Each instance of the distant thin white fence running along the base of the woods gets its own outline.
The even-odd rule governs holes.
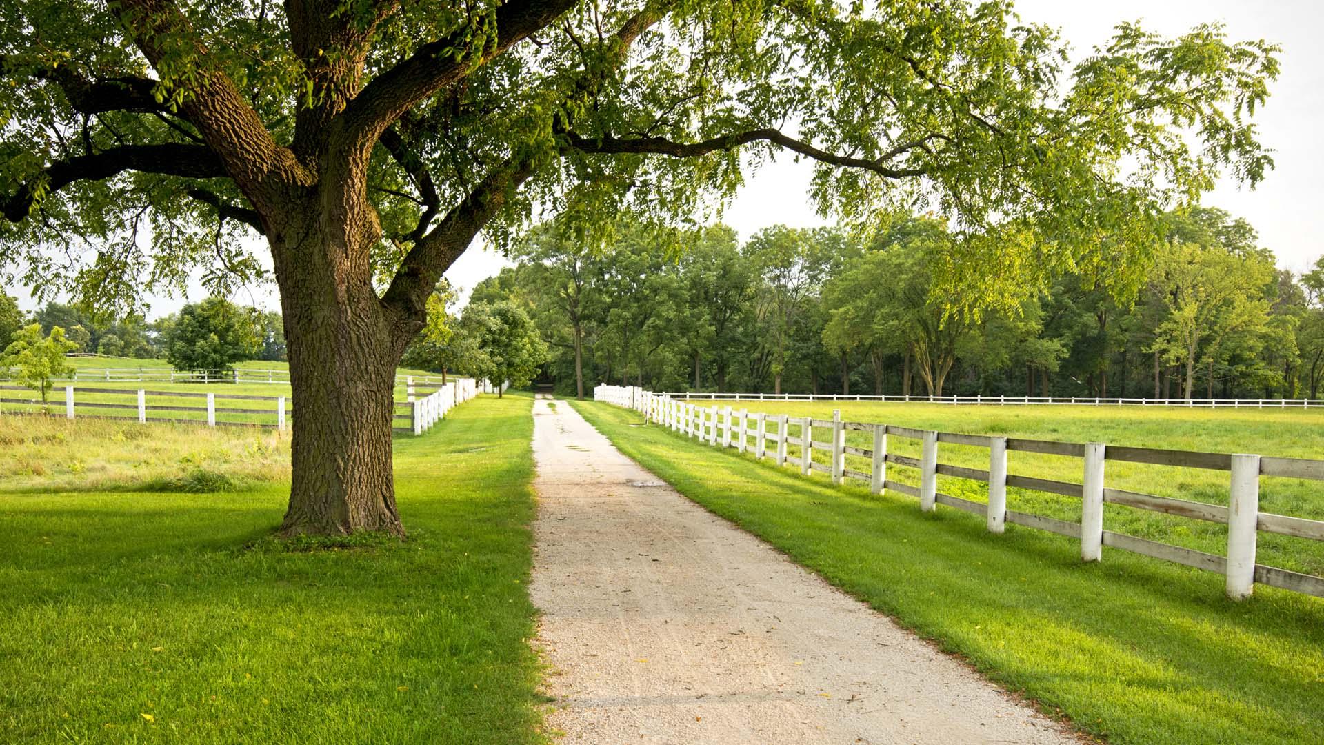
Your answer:
[[[622,387],[622,386],[612,386]],[[661,392],[659,396],[691,400],[801,400],[801,402],[884,402],[945,403],[951,406],[1184,406],[1188,408],[1324,408],[1324,399],[1145,399],[1088,396],[925,396],[925,395],[854,395],[854,394],[715,394]]]

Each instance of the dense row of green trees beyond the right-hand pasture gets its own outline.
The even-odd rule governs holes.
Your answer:
[[[1108,264],[1014,302],[956,296],[956,239],[929,217],[869,241],[775,225],[740,244],[622,225],[602,248],[543,225],[474,302],[512,302],[545,379],[654,390],[1132,398],[1319,398],[1324,258],[1275,266],[1245,220],[1169,215],[1139,282]],[[1119,286],[1121,288],[1119,290]]]

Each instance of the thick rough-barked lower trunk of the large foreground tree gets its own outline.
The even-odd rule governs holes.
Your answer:
[[[395,376],[422,314],[402,327],[377,298],[367,252],[346,249],[315,225],[316,217],[271,239],[295,402],[281,532],[400,534],[391,463]],[[322,256],[305,260],[312,253]]]

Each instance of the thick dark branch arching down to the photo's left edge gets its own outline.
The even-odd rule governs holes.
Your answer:
[[[214,179],[226,175],[216,152],[200,144],[122,144],[90,155],[57,160],[28,179],[19,191],[0,195],[0,211],[11,223],[26,217],[41,198],[74,182],[109,179],[123,171],[143,171],[191,179]]]

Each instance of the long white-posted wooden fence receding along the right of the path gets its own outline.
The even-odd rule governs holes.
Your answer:
[[[769,415],[744,408],[735,411],[730,406],[704,407],[638,387],[598,386],[593,390],[593,398],[639,411],[646,420],[662,424],[688,437],[696,437],[699,441],[733,447],[739,452],[752,451],[756,459],[772,459],[779,467],[790,464],[806,476],[810,471],[821,471],[828,473],[834,484],[855,479],[867,483],[875,494],[884,489],[892,489],[919,498],[920,509],[925,512],[932,512],[936,505],[941,504],[978,514],[985,518],[988,529],[993,533],[1002,533],[1005,524],[1012,522],[1078,538],[1080,557],[1084,561],[1099,561],[1103,546],[1110,546],[1223,574],[1227,595],[1234,599],[1250,597],[1256,582],[1324,598],[1324,578],[1255,563],[1255,542],[1260,532],[1324,541],[1324,521],[1259,512],[1260,476],[1324,481],[1324,460],[963,435],[914,430],[895,424],[842,422],[839,411],[834,412],[831,420],[809,416],[794,418],[785,414]],[[792,426],[800,427],[798,437],[790,436]],[[776,431],[771,431],[769,427],[775,427]],[[829,439],[826,441],[816,440],[814,430],[828,431]],[[871,433],[873,447],[847,445],[846,431]],[[888,453],[887,439],[890,436],[919,440],[922,443],[920,457]],[[939,463],[940,443],[988,448],[988,469]],[[788,455],[788,445],[800,447],[801,457]],[[814,461],[813,452],[816,449],[830,453],[828,464]],[[1082,483],[1010,475],[1006,465],[1008,451],[1080,459]],[[847,468],[847,455],[869,459],[870,471]],[[1104,483],[1104,467],[1110,460],[1226,471],[1229,472],[1229,506],[1110,489]],[[916,488],[887,479],[888,464],[919,471],[920,485]],[[939,475],[988,484],[988,504],[937,492]],[[1006,509],[1008,487],[1076,497],[1082,500],[1080,522],[1009,510]],[[1227,525],[1226,555],[1106,530],[1103,524],[1103,505],[1106,502]]]

